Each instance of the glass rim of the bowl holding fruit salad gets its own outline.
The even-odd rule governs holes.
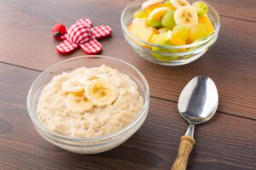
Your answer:
[[[124,23],[124,20],[125,20],[125,12],[126,10],[128,10],[129,8],[131,8],[131,5],[133,5],[134,3],[138,3],[138,2],[141,2],[143,3],[145,0],[135,0],[135,1],[132,1],[131,3],[128,3],[128,5],[125,6],[125,8],[123,9],[122,11],[122,14],[121,14],[121,17],[120,17],[120,22],[121,22],[121,26],[122,26],[122,30],[125,31],[125,34],[127,34],[129,37],[131,37],[132,39],[134,39],[135,41],[137,42],[140,42],[140,43],[143,43],[144,45],[146,46],[149,46],[149,47],[156,47],[156,48],[166,48],[166,49],[180,49],[180,48],[195,48],[197,46],[201,46],[202,44],[204,43],[207,43],[208,41],[210,41],[212,39],[212,37],[215,37],[218,35],[218,31],[219,31],[219,28],[220,28],[220,20],[219,20],[219,15],[218,15],[218,12],[215,10],[215,8],[212,7],[212,5],[210,5],[209,3],[205,2],[205,1],[202,1],[204,3],[207,3],[208,5],[208,8],[211,8],[212,11],[213,11],[213,14],[216,15],[217,17],[217,20],[215,21],[216,22],[216,27],[215,27],[215,30],[212,32],[211,35],[203,38],[201,41],[198,41],[198,42],[192,42],[190,44],[186,44],[186,45],[181,45],[181,46],[173,46],[173,45],[157,45],[157,44],[154,44],[154,43],[150,43],[150,42],[146,42],[144,41],[143,39],[141,38],[138,38],[136,36],[134,36],[133,34],[131,34],[130,31],[127,30],[126,26],[125,26],[125,23]],[[143,47],[145,48],[145,47]]]

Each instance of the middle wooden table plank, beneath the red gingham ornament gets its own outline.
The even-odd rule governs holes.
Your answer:
[[[210,1],[217,9],[223,10],[222,13],[226,11],[230,15],[241,14],[245,17],[252,13],[254,1],[232,2],[236,4],[234,10],[228,6],[230,0],[222,3]],[[90,16],[95,25],[108,24],[113,28],[113,37],[101,41],[102,54],[125,59],[143,71],[152,96],[177,102],[180,91],[191,78],[207,75],[218,85],[218,111],[256,119],[256,37],[252,36],[256,33],[255,22],[221,17],[218,42],[207,54],[189,65],[163,67],[141,59],[125,42],[119,16],[127,3],[129,1],[125,0],[66,3],[2,1],[0,35],[4,43],[0,44],[0,61],[43,71],[63,59],[84,55],[81,50],[69,56],[56,54],[55,45],[58,42],[52,39],[49,31],[56,22],[61,21],[69,26],[83,16]],[[58,11],[55,10],[56,6]],[[109,8],[114,10],[109,13]],[[242,9],[247,13],[242,13]]]

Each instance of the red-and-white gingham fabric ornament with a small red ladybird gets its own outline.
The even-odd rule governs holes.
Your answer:
[[[53,37],[62,42],[56,46],[59,54],[71,54],[82,48],[85,54],[99,54],[102,44],[97,40],[110,37],[112,30],[109,26],[91,27],[90,19],[80,19],[66,29],[66,26],[57,24],[53,27]],[[67,30],[67,31],[66,31]]]

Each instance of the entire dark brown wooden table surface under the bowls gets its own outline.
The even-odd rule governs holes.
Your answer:
[[[209,0],[220,14],[218,42],[201,59],[164,67],[140,58],[125,42],[120,14],[128,0],[0,0],[0,169],[170,169],[188,127],[177,99],[192,77],[207,75],[218,86],[211,122],[196,127],[188,169],[256,169],[256,1]],[[77,155],[42,139],[26,111],[33,80],[49,65],[83,55],[55,53],[50,29],[84,16],[113,28],[103,53],[125,59],[143,72],[151,88],[143,127],[106,153]]]

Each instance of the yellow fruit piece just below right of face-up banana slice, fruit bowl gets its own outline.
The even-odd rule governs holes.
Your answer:
[[[194,42],[203,37],[207,37],[207,28],[205,25],[199,23],[190,28],[189,41]]]

